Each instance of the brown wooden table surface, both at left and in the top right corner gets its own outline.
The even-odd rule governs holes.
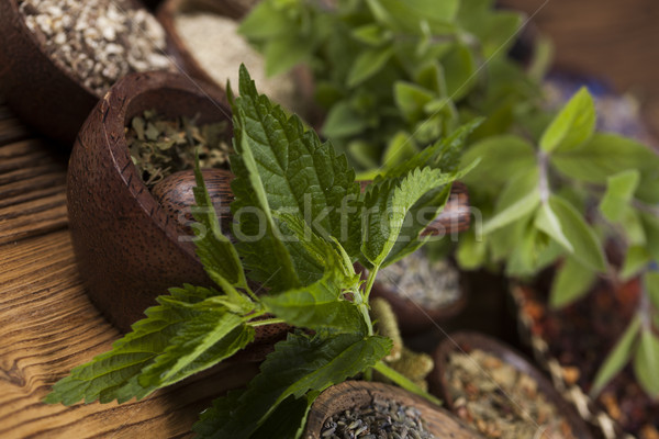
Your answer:
[[[546,0],[506,0],[534,13]],[[606,72],[632,90],[659,132],[659,7],[656,0],[548,0],[536,23],[558,63]],[[255,367],[217,370],[142,402],[64,407],[41,399],[76,364],[119,334],[78,275],[67,230],[66,159],[0,104],[0,438],[188,437],[198,412]]]

